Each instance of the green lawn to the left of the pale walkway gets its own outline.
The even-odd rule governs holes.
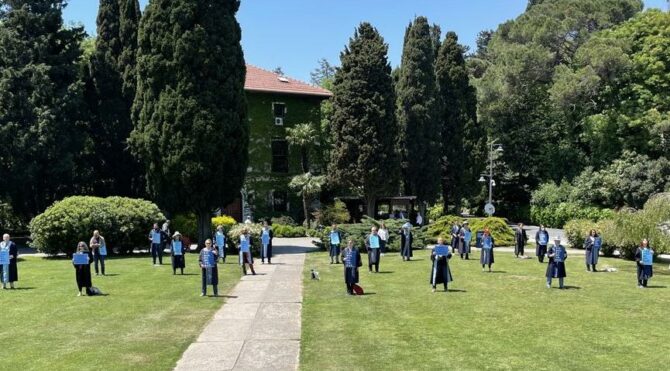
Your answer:
[[[77,297],[69,260],[26,257],[19,289],[0,290],[0,369],[172,369],[225,300],[199,297],[197,258],[186,256],[184,276],[148,256],[110,259],[108,276],[93,273],[108,295]],[[239,276],[219,265],[219,294]]]

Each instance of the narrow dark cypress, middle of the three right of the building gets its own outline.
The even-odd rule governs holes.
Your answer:
[[[396,85],[405,192],[416,195],[419,211],[434,202],[440,185],[440,138],[436,121],[435,50],[431,27],[417,17],[407,28]]]

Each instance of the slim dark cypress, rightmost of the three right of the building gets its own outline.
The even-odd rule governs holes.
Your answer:
[[[448,32],[435,63],[441,125],[442,199],[444,211],[460,213],[464,190],[476,189],[482,169],[486,132],[477,123],[477,95],[465,65],[465,47]]]

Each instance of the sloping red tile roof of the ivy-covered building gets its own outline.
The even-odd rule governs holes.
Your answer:
[[[323,98],[333,96],[333,93],[326,89],[281,76],[250,64],[247,64],[247,78],[244,82],[244,90],[263,93],[312,95]]]

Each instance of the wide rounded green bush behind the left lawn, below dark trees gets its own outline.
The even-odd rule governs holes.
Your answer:
[[[124,197],[74,196],[55,202],[30,222],[32,247],[55,255],[72,254],[77,242],[88,244],[94,230],[105,237],[108,251],[130,252],[148,245],[153,223],[165,217],[145,200]]]

